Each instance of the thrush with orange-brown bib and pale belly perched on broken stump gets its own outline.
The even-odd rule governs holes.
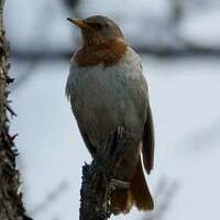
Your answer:
[[[130,183],[111,197],[114,215],[154,208],[144,169],[154,165],[155,135],[148,88],[141,58],[124,40],[119,25],[105,15],[68,18],[79,28],[81,45],[70,59],[66,96],[82,140],[95,157],[116,129],[138,140],[122,155],[117,179]]]

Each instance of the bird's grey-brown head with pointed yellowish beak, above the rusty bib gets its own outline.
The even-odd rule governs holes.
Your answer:
[[[102,15],[89,16],[85,20],[68,18],[81,30],[85,45],[98,45],[112,40],[122,40],[120,28],[109,18]]]

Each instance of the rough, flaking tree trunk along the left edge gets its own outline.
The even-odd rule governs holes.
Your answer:
[[[0,220],[28,220],[19,193],[20,175],[15,167],[18,152],[14,146],[15,135],[9,133],[8,114],[14,114],[10,107],[9,84],[9,43],[3,28],[4,0],[0,0]]]

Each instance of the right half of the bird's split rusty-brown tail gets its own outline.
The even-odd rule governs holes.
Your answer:
[[[131,182],[131,194],[133,202],[139,210],[145,211],[154,209],[154,201],[144,177],[141,160],[139,160],[135,175]]]

